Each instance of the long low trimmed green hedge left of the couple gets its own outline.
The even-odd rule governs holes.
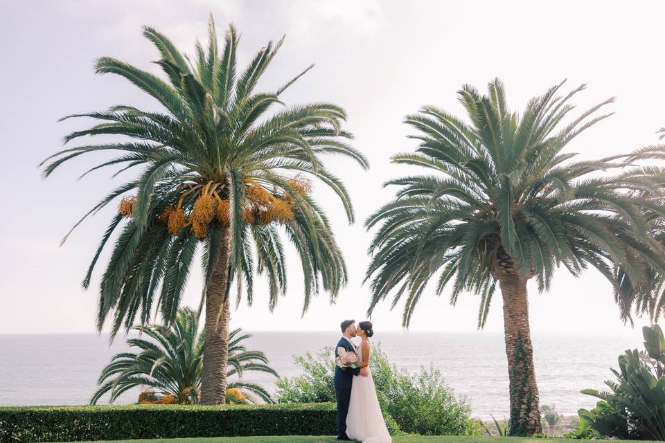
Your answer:
[[[0,443],[335,432],[331,403],[0,407]]]

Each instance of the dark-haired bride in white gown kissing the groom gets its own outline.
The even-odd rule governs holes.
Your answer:
[[[369,338],[374,335],[372,323],[362,321],[358,323],[357,336],[362,339],[359,356],[362,354],[360,368],[367,368],[367,377],[353,377],[351,385],[351,401],[346,415],[346,435],[351,440],[360,440],[362,443],[391,443],[392,439],[386,428],[379,400],[376,397],[374,379],[369,370],[369,357],[372,343]]]

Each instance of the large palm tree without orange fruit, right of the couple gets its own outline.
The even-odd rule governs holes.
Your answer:
[[[538,386],[533,370],[526,282],[549,289],[555,266],[573,275],[589,266],[615,288],[624,320],[637,311],[662,311],[653,284],[665,269],[662,233],[664,170],[641,168],[641,159],[663,157],[662,147],[598,161],[572,161],[563,148],[603,120],[606,100],[568,125],[562,120],[584,85],[557,96],[562,84],[533,98],[520,116],[508,110],[499,80],[486,96],[471,86],[459,91],[470,123],[436,107],[407,116],[419,141],[414,154],[395,163],[428,174],[391,180],[396,199],[366,221],[380,225],[366,272],[375,305],[396,289],[392,306],[406,296],[407,327],[427,282],[436,293],[450,283],[450,302],[461,291],[481,296],[478,324],[485,325],[497,284],[504,311],[510,381],[511,435],[540,433]],[[617,171],[609,174],[605,171]],[[656,182],[656,180],[658,180]]]

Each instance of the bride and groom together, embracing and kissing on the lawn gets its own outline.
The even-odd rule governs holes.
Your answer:
[[[359,440],[362,443],[391,443],[369,359],[374,335],[372,323],[355,320],[342,322],[342,338],[335,346],[335,395],[337,395],[337,440]],[[357,347],[351,341],[360,337]]]

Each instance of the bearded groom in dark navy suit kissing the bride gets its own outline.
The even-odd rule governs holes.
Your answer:
[[[335,346],[335,359],[340,357],[338,349],[344,348],[346,352],[354,352],[355,346],[351,338],[355,337],[355,320],[344,320],[342,322],[342,338]],[[351,399],[351,383],[353,376],[367,377],[367,368],[340,368],[335,365],[335,395],[337,396],[337,440],[350,440],[346,435],[346,414],[348,413],[348,402]]]

